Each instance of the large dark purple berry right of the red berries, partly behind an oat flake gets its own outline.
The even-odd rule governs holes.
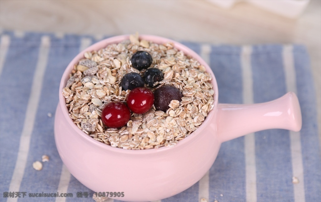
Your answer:
[[[154,106],[156,110],[166,112],[172,100],[182,101],[182,92],[172,85],[164,85],[154,92]]]

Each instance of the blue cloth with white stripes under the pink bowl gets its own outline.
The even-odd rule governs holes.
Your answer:
[[[58,155],[54,116],[65,67],[96,41],[93,36],[1,33],[1,201],[93,201],[93,191],[70,175]],[[182,43],[212,67],[219,102],[265,102],[294,91],[303,126],[299,133],[265,130],[223,143],[198,183],[161,201],[320,201],[320,126],[305,47]],[[32,163],[41,161],[43,154],[50,160],[36,171]],[[42,192],[73,196],[29,197]]]

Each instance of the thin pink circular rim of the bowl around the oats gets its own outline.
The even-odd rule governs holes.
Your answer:
[[[110,152],[117,152],[117,153],[122,153],[122,154],[154,154],[154,153],[159,153],[159,152],[165,152],[169,151],[171,149],[178,149],[179,147],[184,146],[185,144],[188,144],[189,142],[193,141],[193,139],[197,138],[197,136],[201,134],[196,134],[197,131],[204,130],[205,127],[210,124],[211,122],[215,121],[216,118],[216,111],[217,111],[217,104],[218,104],[218,86],[217,86],[217,81],[214,76],[213,71],[211,70],[210,66],[204,61],[203,58],[201,58],[195,51],[192,49],[188,48],[187,46],[174,41],[170,40],[164,37],[156,36],[156,35],[139,35],[139,39],[144,39],[148,41],[152,41],[154,43],[158,44],[163,44],[165,42],[172,42],[174,44],[174,47],[177,48],[178,50],[181,50],[184,52],[184,54],[191,56],[195,58],[197,61],[199,61],[203,66],[205,66],[206,72],[210,73],[212,76],[211,83],[213,84],[213,90],[214,90],[214,95],[213,95],[213,104],[214,107],[213,109],[208,113],[208,116],[205,118],[204,122],[198,127],[195,131],[193,131],[190,135],[185,137],[182,140],[178,141],[178,144],[173,146],[173,147],[166,147],[162,146],[160,148],[151,148],[151,149],[140,149],[140,150],[132,150],[132,149],[123,149],[123,148],[118,148],[118,147],[112,147],[110,145],[106,145],[105,143],[102,143],[100,141],[97,141],[84,133],[80,128],[77,127],[77,125],[72,121],[72,119],[69,117],[69,112],[65,103],[65,97],[63,96],[62,89],[65,87],[67,80],[69,79],[69,75],[71,73],[72,68],[74,67],[74,64],[78,63],[78,61],[82,58],[84,58],[84,53],[87,51],[92,51],[92,50],[99,50],[100,48],[105,48],[109,44],[114,44],[114,43],[119,43],[123,40],[128,40],[129,39],[129,34],[127,35],[118,35],[114,37],[109,37],[103,40],[100,40],[91,46],[85,48],[82,50],[80,53],[78,53],[72,61],[68,64],[68,66],[65,68],[65,71],[61,77],[60,80],[60,85],[59,85],[59,106],[62,110],[62,114],[64,118],[67,120],[67,124],[70,125],[76,133],[79,134],[80,137],[82,137],[84,140],[88,141],[90,144],[93,144],[94,146],[98,146],[104,150],[110,151]],[[59,107],[58,106],[58,107]],[[56,124],[56,120],[55,120]],[[215,132],[213,131],[213,135],[215,135]]]

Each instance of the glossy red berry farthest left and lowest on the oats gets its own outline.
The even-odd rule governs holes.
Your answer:
[[[101,120],[107,127],[123,127],[129,119],[130,111],[126,104],[122,102],[110,102],[101,112]]]

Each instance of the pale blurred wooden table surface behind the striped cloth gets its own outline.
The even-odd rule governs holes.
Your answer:
[[[321,122],[321,1],[298,19],[238,2],[223,9],[209,1],[0,1],[2,30],[102,35],[154,34],[216,44],[297,43],[308,48]],[[321,137],[319,127],[319,136]],[[321,142],[321,138],[320,138]]]

